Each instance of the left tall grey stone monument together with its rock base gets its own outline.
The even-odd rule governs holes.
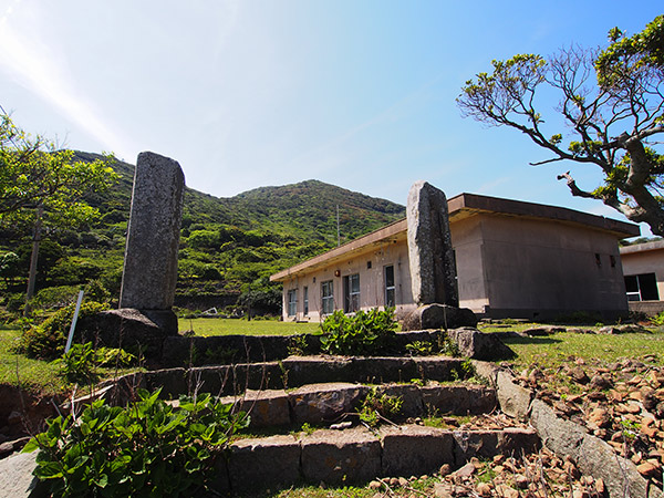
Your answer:
[[[83,342],[139,347],[158,362],[164,339],[177,334],[173,312],[185,176],[179,164],[138,154],[127,229],[120,309],[82,320]]]

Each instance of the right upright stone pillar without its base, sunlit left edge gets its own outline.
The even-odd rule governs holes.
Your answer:
[[[413,299],[417,304],[459,305],[447,199],[443,190],[416,181],[406,205]]]

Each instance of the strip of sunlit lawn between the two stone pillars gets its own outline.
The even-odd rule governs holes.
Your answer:
[[[196,335],[294,335],[317,333],[315,323],[281,322],[278,320],[179,319],[180,333],[193,330]]]

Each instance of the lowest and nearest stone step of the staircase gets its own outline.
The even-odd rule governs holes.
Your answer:
[[[302,481],[342,485],[381,476],[422,476],[445,464],[456,469],[471,457],[520,456],[540,446],[537,433],[528,427],[448,430],[402,425],[239,439],[220,464],[214,487],[238,492]]]

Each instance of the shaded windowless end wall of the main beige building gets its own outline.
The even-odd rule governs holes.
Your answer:
[[[626,313],[615,236],[575,225],[479,215],[489,315]]]

